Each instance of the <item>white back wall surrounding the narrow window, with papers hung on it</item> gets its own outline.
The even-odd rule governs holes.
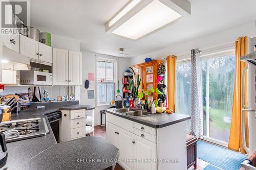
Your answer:
[[[80,88],[80,104],[87,104],[87,105],[94,105],[96,106],[96,81],[90,81],[90,86],[88,89],[84,88],[84,81],[88,79],[88,73],[89,72],[96,72],[96,57],[100,58],[108,58],[108,59],[115,59],[117,60],[117,79],[119,80],[119,88],[120,88],[120,93],[122,93],[122,77],[123,77],[123,72],[127,66],[130,66],[130,59],[126,58],[119,58],[119,57],[113,57],[113,56],[108,56],[108,55],[102,55],[102,54],[96,54],[96,53],[91,53],[91,52],[86,52],[86,51],[81,51],[82,52],[82,81],[83,84]],[[96,78],[96,75],[95,75]],[[94,90],[94,95],[95,99],[88,99],[88,90]],[[105,110],[109,108],[110,106],[96,106],[94,110],[94,125],[100,125],[100,110]],[[104,116],[102,117],[102,121],[104,123]]]

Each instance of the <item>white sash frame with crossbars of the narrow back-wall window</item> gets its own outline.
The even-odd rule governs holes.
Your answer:
[[[114,64],[114,70],[113,70],[113,81],[106,81],[106,67],[105,67],[105,81],[103,82],[100,82],[98,80],[98,76],[97,76],[97,64],[98,62],[100,61],[103,61],[106,63],[113,63]],[[108,84],[113,84],[114,85],[114,94],[113,96],[115,97],[116,95],[116,81],[117,81],[117,60],[114,60],[114,59],[108,59],[108,58],[100,58],[100,57],[96,57],[96,67],[95,67],[95,72],[96,72],[96,84],[95,84],[95,89],[96,89],[96,105],[97,106],[105,106],[105,105],[111,105],[109,102],[108,102],[108,94],[107,94],[107,90],[108,90]],[[101,103],[98,103],[98,84],[105,84],[105,102],[101,102]]]

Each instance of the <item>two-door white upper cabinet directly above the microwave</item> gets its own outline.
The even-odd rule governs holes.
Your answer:
[[[20,35],[19,50],[26,57],[52,63],[52,47],[24,35]]]

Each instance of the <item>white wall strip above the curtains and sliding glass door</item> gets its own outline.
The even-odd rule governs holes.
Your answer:
[[[146,57],[163,59],[168,55],[177,55],[177,57],[179,58],[179,55],[189,54],[190,50],[193,48],[200,48],[201,50],[203,50],[205,48],[214,47],[222,44],[227,44],[231,42],[234,43],[237,38],[241,36],[256,36],[255,21],[248,22],[244,25],[233,27],[196,39],[188,40],[186,42],[169,45],[162,50],[132,58],[131,65],[144,62],[144,58]]]

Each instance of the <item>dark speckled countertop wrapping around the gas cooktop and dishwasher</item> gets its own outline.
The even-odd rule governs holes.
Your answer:
[[[37,109],[38,105],[45,105],[45,108]],[[38,103],[18,114],[12,114],[11,119],[44,117],[47,120],[45,114],[60,109],[88,110],[94,108],[90,105],[79,105],[78,101]],[[48,120],[46,122],[49,134],[7,143],[7,157],[0,164],[0,169],[67,169],[67,167],[68,169],[114,169],[116,162],[112,160],[118,158],[119,151],[110,142],[101,137],[83,137],[57,143]],[[104,148],[100,149],[99,145]],[[91,160],[88,160],[89,158]],[[99,159],[105,161],[92,162],[92,160]]]

